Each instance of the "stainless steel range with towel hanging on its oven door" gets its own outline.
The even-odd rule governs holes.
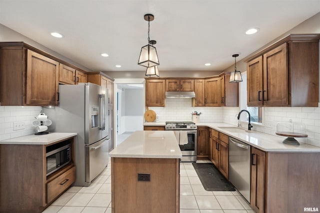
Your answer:
[[[182,152],[182,162],[196,162],[197,127],[195,123],[185,122],[165,122],[165,130],[174,131]]]

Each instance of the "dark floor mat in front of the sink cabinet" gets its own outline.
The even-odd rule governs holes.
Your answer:
[[[210,163],[192,163],[206,191],[235,191],[234,187]]]

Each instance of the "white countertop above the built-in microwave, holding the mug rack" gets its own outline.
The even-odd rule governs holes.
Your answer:
[[[53,132],[46,135],[27,135],[0,141],[0,144],[30,144],[30,145],[49,145],[76,136],[77,133],[58,133]]]

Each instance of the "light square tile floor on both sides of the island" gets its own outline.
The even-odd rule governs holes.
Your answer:
[[[110,175],[109,164],[89,187],[71,187],[43,213],[111,213]],[[180,213],[255,212],[237,191],[205,191],[192,164],[184,162],[180,165]]]

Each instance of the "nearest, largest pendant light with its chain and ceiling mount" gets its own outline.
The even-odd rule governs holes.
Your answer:
[[[141,47],[141,52],[138,60],[138,65],[145,66],[147,68],[159,65],[158,55],[156,49],[150,43],[150,21],[154,19],[152,14],[145,14],[144,20],[148,21],[148,44]]]

